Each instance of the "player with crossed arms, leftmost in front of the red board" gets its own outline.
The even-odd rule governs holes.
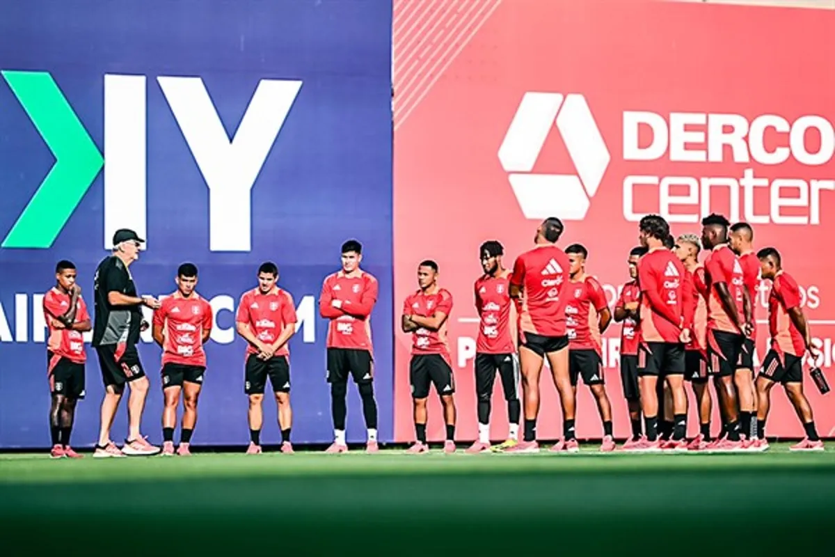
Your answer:
[[[412,361],[409,362],[409,382],[412,385],[415,434],[417,440],[407,449],[409,454],[428,453],[426,443],[426,408],[429,387],[435,386],[443,406],[443,421],[447,424],[444,453],[455,452],[455,379],[452,358],[447,344],[447,320],[453,311],[453,295],[438,286],[438,263],[421,261],[417,266],[417,286],[414,294],[403,301],[400,318],[403,332],[412,333]]]

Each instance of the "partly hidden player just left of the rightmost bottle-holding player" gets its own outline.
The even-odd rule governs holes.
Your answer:
[[[757,349],[757,319],[756,304],[757,286],[760,282],[760,261],[754,251],[754,230],[746,222],[737,222],[731,226],[731,250],[739,257],[742,267],[742,283],[751,300],[751,332],[742,342],[739,362],[736,364],[734,382],[736,394],[739,397],[739,407],[742,412],[757,413],[757,388],[754,386],[754,351]],[[742,434],[749,442],[757,443],[757,420],[749,419],[751,429]]]

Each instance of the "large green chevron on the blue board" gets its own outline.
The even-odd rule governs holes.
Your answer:
[[[48,248],[99,175],[104,157],[49,73],[0,74],[55,155],[52,170],[0,246]]]

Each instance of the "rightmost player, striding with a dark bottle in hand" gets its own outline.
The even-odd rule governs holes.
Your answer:
[[[780,253],[772,247],[757,252],[762,278],[772,281],[768,296],[768,330],[772,347],[762,361],[757,377],[757,433],[760,450],[768,448],[766,418],[769,397],[774,383],[781,383],[789,401],[800,418],[806,438],[794,445],[792,451],[822,451],[823,442],[817,436],[812,407],[803,394],[803,356],[808,352],[817,358],[819,352],[812,347],[812,332],[800,307],[800,288],[797,281],[782,270]]]

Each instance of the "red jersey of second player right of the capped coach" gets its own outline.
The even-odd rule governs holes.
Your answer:
[[[250,331],[261,342],[272,344],[281,335],[284,327],[295,324],[297,321],[293,296],[278,286],[273,287],[266,294],[261,294],[257,287],[246,291],[243,296],[240,296],[235,321],[248,325]],[[289,342],[285,342],[284,346],[276,351],[275,356],[290,356],[288,344]],[[258,349],[247,343],[246,353],[247,355],[257,354]]]

